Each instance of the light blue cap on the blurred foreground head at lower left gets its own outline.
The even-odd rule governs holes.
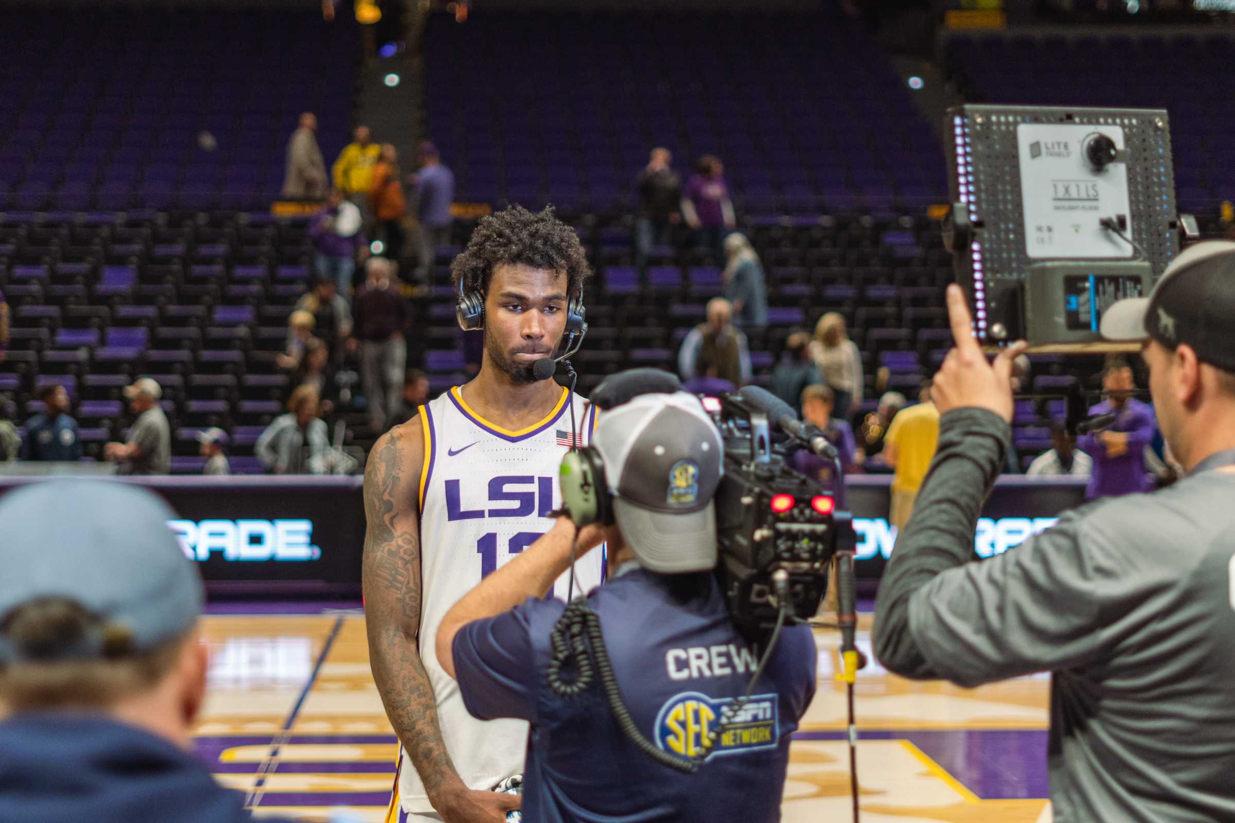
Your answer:
[[[42,597],[65,597],[99,617],[90,635],[40,661],[103,656],[104,635],[148,651],[188,632],[203,586],[154,492],[114,480],[46,480],[0,496],[0,664],[23,660],[6,616]]]

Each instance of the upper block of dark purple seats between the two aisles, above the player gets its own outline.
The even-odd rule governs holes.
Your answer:
[[[718,154],[745,213],[925,205],[936,130],[839,14],[472,15],[425,35],[429,130],[459,199],[618,213],[653,146]]]

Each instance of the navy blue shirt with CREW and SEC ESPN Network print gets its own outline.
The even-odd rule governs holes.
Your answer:
[[[625,574],[622,574],[625,571]],[[638,729],[679,755],[700,750],[724,707],[746,692],[763,649],[729,619],[715,580],[692,596],[673,579],[634,568],[595,589],[588,605]],[[529,598],[454,635],[467,709],[480,719],[529,721],[524,819],[541,823],[779,821],[789,738],[815,693],[815,642],[787,627],[737,722],[687,775],[622,735],[600,689],[562,698],[550,687],[550,634],[559,600]]]

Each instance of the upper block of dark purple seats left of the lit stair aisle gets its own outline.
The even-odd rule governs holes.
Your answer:
[[[267,209],[299,112],[317,112],[327,158],[346,142],[345,17],[0,11],[0,30],[21,32],[0,67],[0,210]]]

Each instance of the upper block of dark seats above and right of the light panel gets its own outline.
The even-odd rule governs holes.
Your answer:
[[[1179,207],[1208,210],[1235,192],[1235,101],[1224,77],[1226,32],[951,35],[947,62],[973,102],[1166,109]]]

